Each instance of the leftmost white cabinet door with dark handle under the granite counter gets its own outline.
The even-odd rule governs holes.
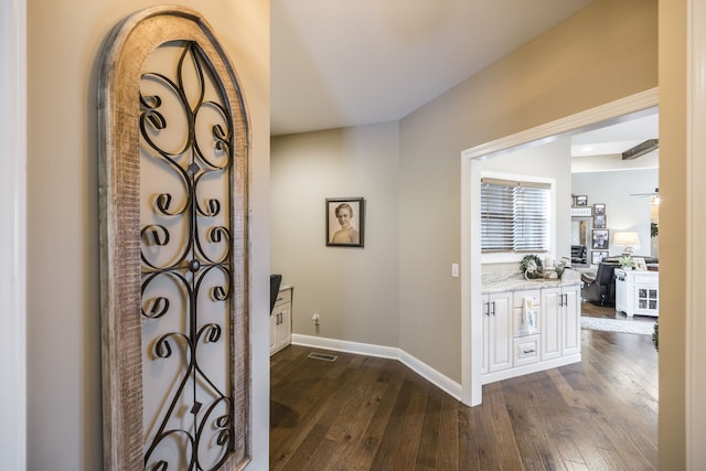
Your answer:
[[[489,318],[489,372],[512,366],[512,293],[490,295]]]

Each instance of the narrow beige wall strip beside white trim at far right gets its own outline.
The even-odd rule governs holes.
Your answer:
[[[685,321],[687,315],[704,314],[702,308],[698,308],[697,312],[686,313],[686,297],[689,295],[686,282],[687,260],[698,256],[687,251],[689,229],[693,231],[692,235],[697,236],[696,240],[703,240],[703,233],[696,234],[686,216],[689,191],[686,147],[688,3],[686,0],[660,2],[660,193],[663,196],[660,207],[660,304],[668,307],[670,312],[670,315],[660,317],[661,470],[687,469],[687,439],[694,447],[692,453],[699,453],[698,449],[704,448],[703,436],[689,438],[685,430],[687,376],[684,365],[687,346],[685,340],[688,340],[685,339]],[[697,244],[696,249],[698,254],[703,254],[699,245]],[[698,291],[704,287],[695,289]],[[689,347],[696,349],[695,345]],[[702,362],[703,358],[698,358],[698,363]],[[700,370],[703,371],[703,367]],[[703,390],[700,393],[703,396]],[[700,397],[696,399],[700,400]],[[700,469],[703,464],[703,461],[692,463],[691,469]]]

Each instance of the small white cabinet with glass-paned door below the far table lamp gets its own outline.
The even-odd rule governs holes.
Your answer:
[[[660,272],[616,269],[616,310],[660,315]]]

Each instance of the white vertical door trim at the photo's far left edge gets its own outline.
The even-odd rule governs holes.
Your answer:
[[[26,4],[0,2],[0,462],[26,469]]]

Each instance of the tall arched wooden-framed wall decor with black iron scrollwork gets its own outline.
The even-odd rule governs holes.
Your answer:
[[[250,459],[248,121],[195,11],[118,24],[99,85],[105,469]]]

